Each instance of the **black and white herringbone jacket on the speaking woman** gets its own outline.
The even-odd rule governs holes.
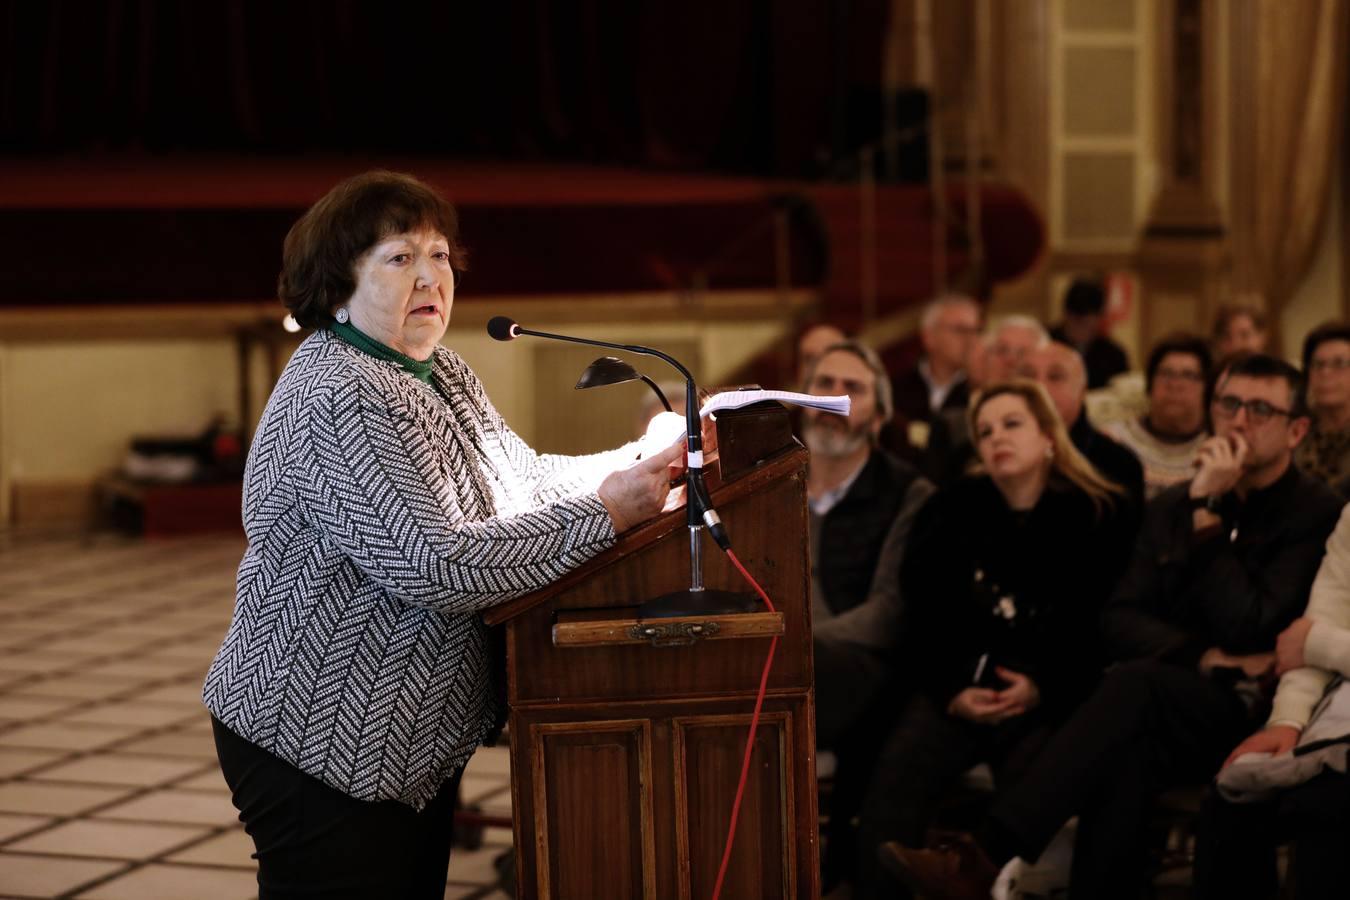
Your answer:
[[[498,712],[477,613],[613,542],[594,488],[620,464],[535,453],[456,354],[433,359],[436,387],[329,332],[290,358],[248,453],[248,549],[202,688],[302,772],[417,808]]]

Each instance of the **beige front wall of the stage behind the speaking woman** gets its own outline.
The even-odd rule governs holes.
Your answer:
[[[568,305],[564,300],[558,302]],[[583,302],[570,308],[566,322],[536,327],[657,348],[693,344],[702,363],[694,374],[705,385],[716,385],[788,328],[778,320],[586,321],[585,313],[576,312],[585,309]],[[540,433],[539,421],[545,417],[536,409],[533,391],[536,379],[570,387],[579,375],[579,368],[537,371],[541,348],[556,347],[555,343],[520,339],[501,344],[487,337],[479,322],[473,322],[452,328],[446,344],[474,367],[502,416],[522,437],[541,449],[564,443],[559,434]],[[605,352],[595,349],[594,356]],[[279,364],[286,354],[282,349]],[[270,390],[258,354],[250,368],[258,414]],[[657,381],[674,374],[659,360],[641,363],[639,368]],[[12,522],[16,490],[28,491],[28,497],[40,493],[42,498],[53,498],[51,503],[58,502],[62,491],[88,493],[99,476],[119,467],[134,436],[194,434],[215,414],[238,422],[238,371],[232,337],[0,341],[0,525]],[[567,394],[562,399],[578,405],[582,414],[574,426],[589,429],[587,439],[608,437],[603,424],[599,429],[594,422],[587,424],[586,413],[594,414],[589,406],[599,399]],[[628,420],[616,422],[610,433],[622,437],[630,429]],[[78,505],[61,501],[61,506]]]

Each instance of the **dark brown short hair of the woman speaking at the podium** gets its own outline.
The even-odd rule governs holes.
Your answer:
[[[356,290],[356,262],[390,235],[425,228],[446,237],[450,266],[464,270],[455,206],[431,186],[396,171],[354,175],[300,217],[281,256],[277,296],[305,328],[323,328]]]

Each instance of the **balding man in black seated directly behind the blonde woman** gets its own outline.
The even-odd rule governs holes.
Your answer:
[[[1143,511],[1143,467],[1134,452],[1092,428],[1083,413],[1087,372],[1079,352],[1060,341],[1050,341],[1027,356],[1019,374],[1045,389],[1068,428],[1073,445],[1107,480],[1125,490],[1130,514],[1138,517]],[[1133,538],[1134,528],[1129,528],[1126,533]]]

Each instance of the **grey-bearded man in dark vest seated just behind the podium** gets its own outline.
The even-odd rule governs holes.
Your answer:
[[[891,417],[891,383],[876,354],[856,341],[826,349],[803,390],[848,394],[848,417],[802,410],[811,451],[811,629],[815,644],[815,738],[838,760],[826,880],[852,861],[850,822],[894,707],[887,698],[900,630],[900,560],[910,525],[933,486],[876,445]]]

